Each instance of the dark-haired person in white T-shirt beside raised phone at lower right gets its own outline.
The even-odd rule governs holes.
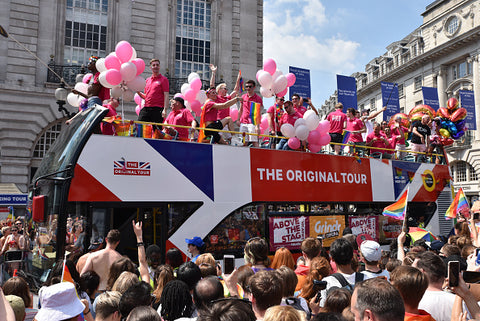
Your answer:
[[[430,313],[437,321],[450,320],[455,295],[443,291],[446,275],[446,266],[443,260],[429,251],[418,255],[413,266],[420,269],[428,278],[428,288],[418,308]]]

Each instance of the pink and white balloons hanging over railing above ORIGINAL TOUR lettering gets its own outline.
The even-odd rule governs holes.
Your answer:
[[[282,134],[288,138],[288,147],[298,149],[301,141],[308,142],[308,149],[312,153],[318,153],[322,146],[330,143],[330,122],[320,121],[320,118],[313,110],[307,110],[303,118],[295,121],[294,126],[283,124],[280,128]]]

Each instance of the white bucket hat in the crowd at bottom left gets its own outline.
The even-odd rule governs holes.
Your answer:
[[[71,319],[85,309],[85,305],[77,297],[75,286],[70,282],[61,282],[43,288],[40,305],[42,308],[35,316],[37,321]]]

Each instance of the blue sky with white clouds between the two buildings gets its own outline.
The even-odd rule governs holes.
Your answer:
[[[336,74],[364,71],[421,26],[433,0],[264,0],[263,55],[284,74],[310,69],[312,102],[320,107],[335,91]],[[273,99],[264,99],[270,106]]]

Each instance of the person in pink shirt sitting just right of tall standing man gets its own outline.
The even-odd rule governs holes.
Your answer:
[[[196,121],[193,117],[190,110],[185,107],[185,101],[182,97],[174,97],[171,101],[171,108],[172,111],[168,114],[167,118],[165,119],[166,124],[170,125],[181,125],[181,126],[191,126],[191,129],[195,129]],[[175,136],[178,133],[177,139],[188,141],[189,134],[188,128],[181,128],[181,127],[168,127],[165,128],[165,131],[169,133],[171,136]]]

